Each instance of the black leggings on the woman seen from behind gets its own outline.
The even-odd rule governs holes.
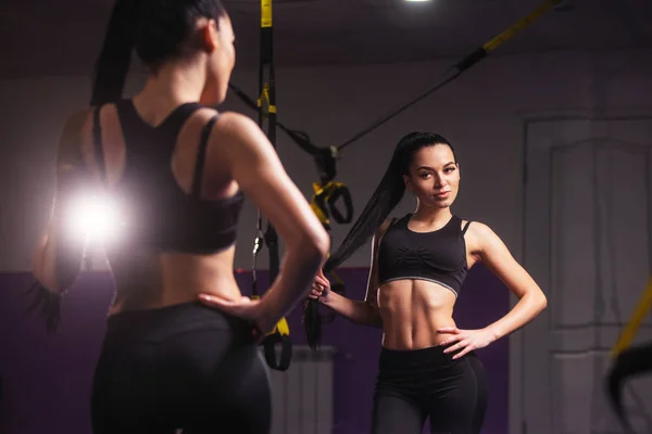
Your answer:
[[[268,371],[250,336],[244,321],[196,303],[111,316],[92,432],[268,433]]]

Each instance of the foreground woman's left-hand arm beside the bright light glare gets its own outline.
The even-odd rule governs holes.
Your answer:
[[[76,280],[82,268],[85,240],[71,226],[74,202],[91,184],[85,167],[79,136],[87,118],[79,112],[66,122],[57,158],[57,190],[46,233],[34,254],[34,275],[49,291],[61,293]]]

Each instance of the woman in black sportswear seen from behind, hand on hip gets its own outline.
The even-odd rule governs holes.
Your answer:
[[[54,314],[83,258],[75,204],[103,196],[118,214],[104,240],[116,291],[95,373],[96,434],[269,430],[256,342],[305,296],[329,241],[258,125],[212,108],[226,95],[234,39],[218,0],[117,0],[91,107],[63,128],[34,263]],[[123,99],[134,49],[148,77]],[[254,301],[233,272],[243,196],[287,247],[278,279]]]

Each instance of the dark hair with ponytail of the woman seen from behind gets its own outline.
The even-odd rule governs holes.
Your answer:
[[[183,58],[196,20],[226,14],[220,0],[116,0],[96,63],[91,105],[122,98],[134,49],[151,73]]]

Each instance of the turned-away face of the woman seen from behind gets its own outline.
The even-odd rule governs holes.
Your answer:
[[[228,15],[222,15],[217,22],[211,21],[209,33],[213,50],[209,54],[206,84],[201,103],[217,105],[226,99],[228,81],[236,64],[235,35]]]

